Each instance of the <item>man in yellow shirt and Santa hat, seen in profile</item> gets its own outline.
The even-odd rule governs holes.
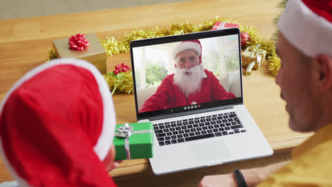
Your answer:
[[[332,0],[289,0],[278,27],[276,83],[289,128],[315,134],[294,148],[290,162],[205,176],[201,187],[332,186]]]

